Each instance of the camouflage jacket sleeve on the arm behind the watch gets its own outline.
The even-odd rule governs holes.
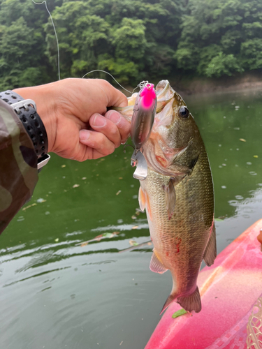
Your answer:
[[[0,234],[30,200],[37,181],[34,145],[13,108],[0,100]]]

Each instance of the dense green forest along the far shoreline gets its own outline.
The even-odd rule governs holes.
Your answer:
[[[262,70],[259,0],[49,0],[48,8],[61,78],[102,69],[136,86]],[[0,0],[1,91],[57,80],[57,63],[45,5]]]

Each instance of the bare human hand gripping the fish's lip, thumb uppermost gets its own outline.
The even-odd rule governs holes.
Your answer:
[[[101,158],[126,142],[130,124],[115,110],[124,107],[122,92],[101,79],[64,79],[14,90],[36,102],[48,133],[48,151],[78,161]]]

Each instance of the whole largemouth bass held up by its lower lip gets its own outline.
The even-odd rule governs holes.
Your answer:
[[[173,288],[161,313],[175,301],[201,311],[196,285],[202,260],[216,258],[214,194],[208,155],[194,118],[167,80],[157,84],[157,114],[143,144],[147,177],[140,181],[140,209],[146,210],[154,244],[150,269],[170,270]],[[131,118],[129,107],[119,110]]]

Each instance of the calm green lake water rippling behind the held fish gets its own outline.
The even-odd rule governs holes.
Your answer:
[[[218,251],[262,217],[261,96],[185,98],[212,167]],[[36,205],[0,237],[0,348],[145,347],[172,283],[150,272],[152,246],[119,253],[149,239],[126,150],[85,163],[52,155],[41,172],[25,207]],[[75,246],[105,232],[119,233]]]

